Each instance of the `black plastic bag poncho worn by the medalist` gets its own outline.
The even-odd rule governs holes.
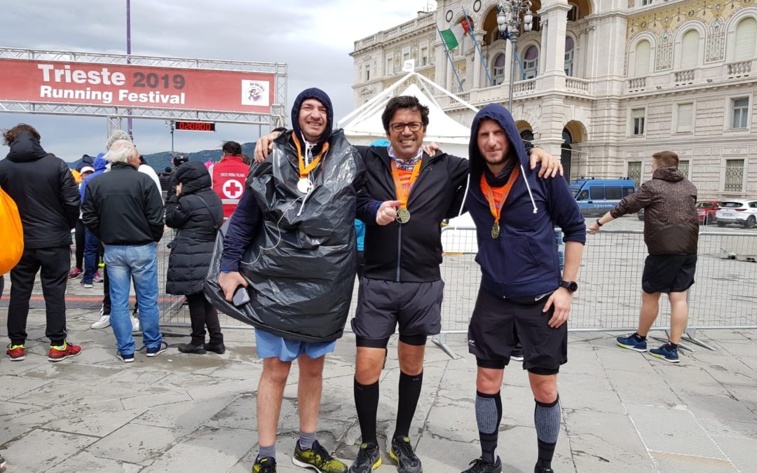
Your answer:
[[[276,138],[269,158],[253,166],[247,183],[263,213],[263,225],[239,263],[251,302],[234,307],[218,285],[224,225],[205,283],[213,306],[290,340],[340,338],[355,282],[356,189],[363,173],[360,154],[341,130],[334,132],[325,159],[310,173],[315,187],[306,197],[297,189],[291,132]]]

